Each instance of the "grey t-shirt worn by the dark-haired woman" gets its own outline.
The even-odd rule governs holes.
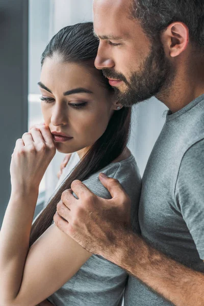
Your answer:
[[[73,163],[70,160],[65,173],[70,173]],[[141,193],[141,177],[134,157],[118,163],[111,163],[99,172],[104,172],[117,179],[132,199],[131,220],[135,231],[138,230],[138,207]],[[84,184],[96,195],[111,198],[108,190],[98,179],[99,172],[93,174]],[[57,187],[66,179],[63,175]],[[118,306],[127,282],[127,273],[104,259],[93,255],[81,269],[57,292],[48,297],[56,306]],[[55,280],[53,280],[55,281]]]

